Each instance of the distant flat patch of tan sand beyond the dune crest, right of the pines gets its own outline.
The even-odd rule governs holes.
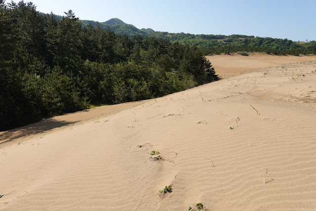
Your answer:
[[[239,54],[206,56],[211,62],[217,74],[227,78],[239,73],[249,72],[255,69],[283,65],[293,62],[315,61],[316,55],[269,55],[264,53],[249,53],[249,56]]]

